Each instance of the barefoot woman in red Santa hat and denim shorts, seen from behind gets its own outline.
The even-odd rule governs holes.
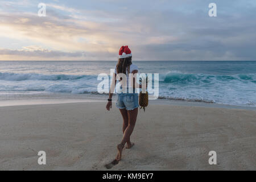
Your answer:
[[[117,146],[118,154],[115,158],[117,161],[121,160],[122,150],[123,147],[125,147],[125,143],[127,143],[126,148],[131,148],[134,145],[134,143],[130,141],[130,137],[131,133],[133,133],[133,129],[137,120],[139,107],[138,94],[135,93],[135,85],[137,85],[135,84],[135,81],[137,80],[133,77],[133,85],[129,85],[129,73],[138,73],[138,67],[131,62],[131,51],[128,46],[122,46],[119,50],[118,63],[115,67],[114,78],[119,73],[123,73],[127,77],[127,92],[123,93],[122,90],[122,93],[117,94],[118,99],[116,106],[120,110],[123,118],[123,138],[121,143],[119,143]],[[120,80],[122,80],[122,78],[120,78]],[[116,80],[113,81],[113,83],[115,85]],[[129,92],[129,87],[133,88],[133,93]],[[141,85],[139,85],[138,88],[141,88]],[[126,89],[125,86],[123,86],[122,89]],[[112,108],[112,96],[113,93],[109,92],[108,104],[106,105],[107,110],[110,110],[110,108]]]

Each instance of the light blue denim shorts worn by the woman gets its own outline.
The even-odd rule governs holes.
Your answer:
[[[119,93],[117,94],[118,109],[134,110],[139,107],[138,93]]]

